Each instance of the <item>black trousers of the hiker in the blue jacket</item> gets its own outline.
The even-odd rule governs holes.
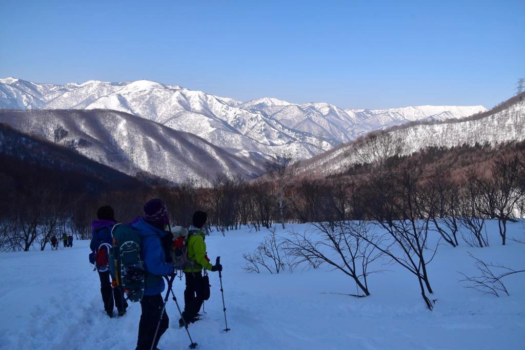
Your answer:
[[[143,296],[140,302],[142,314],[140,315],[139,338],[137,340],[137,348],[135,350],[151,349],[151,343],[153,343],[153,337],[155,336],[155,331],[157,329],[157,325],[159,324],[163,305],[164,300],[160,294]],[[169,326],[170,319],[164,310],[164,315],[162,316],[161,325],[159,327],[159,333],[157,333],[153,348],[157,347],[161,336],[164,334],[164,332],[166,332]]]

